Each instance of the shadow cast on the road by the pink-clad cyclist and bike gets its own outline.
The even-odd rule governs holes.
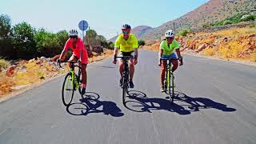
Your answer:
[[[103,113],[113,117],[122,117],[124,114],[117,104],[110,101],[100,101],[100,96],[94,92],[86,92],[80,102],[71,103],[66,111],[72,115],[88,115],[91,113]]]

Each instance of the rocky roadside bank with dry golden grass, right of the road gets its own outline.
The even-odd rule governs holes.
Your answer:
[[[256,62],[256,25],[198,32],[176,37],[180,50],[215,58]],[[147,50],[159,50],[160,41],[146,42]]]

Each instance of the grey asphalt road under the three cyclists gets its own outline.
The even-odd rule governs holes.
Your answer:
[[[87,67],[94,101],[76,92],[64,106],[61,77],[0,103],[0,143],[256,143],[256,67],[184,56],[171,105],[160,93],[158,54],[139,53],[137,97],[126,106],[118,66],[106,59]]]

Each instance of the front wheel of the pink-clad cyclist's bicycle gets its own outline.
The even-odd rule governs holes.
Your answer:
[[[72,75],[66,74],[62,85],[62,102],[65,106],[69,106],[74,97],[74,82],[72,82]]]

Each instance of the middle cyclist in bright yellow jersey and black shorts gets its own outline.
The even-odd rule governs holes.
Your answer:
[[[117,40],[114,43],[114,61],[113,63],[116,64],[117,62],[117,54],[118,50],[120,50],[120,56],[133,56],[134,58],[130,59],[130,88],[134,88],[134,65],[138,63],[138,40],[134,36],[134,34],[130,34],[130,26],[125,24],[122,26],[122,34],[120,34]],[[122,59],[119,59],[119,72],[122,77],[123,72],[123,62]],[[122,86],[122,78],[120,78],[120,86]]]

